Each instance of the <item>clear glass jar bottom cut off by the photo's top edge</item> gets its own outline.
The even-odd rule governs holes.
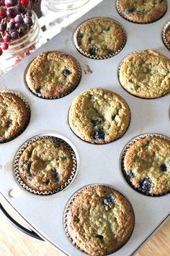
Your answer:
[[[73,10],[82,7],[89,0],[45,0],[48,8],[53,10]]]

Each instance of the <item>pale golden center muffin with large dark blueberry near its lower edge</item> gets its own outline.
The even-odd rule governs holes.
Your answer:
[[[120,138],[130,123],[130,108],[110,90],[89,89],[78,95],[68,114],[73,132],[86,142],[104,144]]]

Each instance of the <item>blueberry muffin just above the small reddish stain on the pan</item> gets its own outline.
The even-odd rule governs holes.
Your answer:
[[[81,24],[74,33],[76,48],[94,59],[109,58],[125,46],[124,29],[115,20],[94,18]]]

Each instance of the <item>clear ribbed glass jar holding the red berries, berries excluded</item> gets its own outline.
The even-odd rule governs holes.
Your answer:
[[[22,38],[10,42],[9,48],[3,51],[3,54],[0,56],[0,75],[12,69],[15,64],[40,47],[40,35],[41,30],[37,14],[32,12],[31,29]]]

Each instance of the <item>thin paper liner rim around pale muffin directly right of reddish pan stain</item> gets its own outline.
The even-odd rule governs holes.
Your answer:
[[[144,50],[143,50],[144,51]],[[126,61],[126,59],[128,59],[129,56],[131,56],[132,54],[135,54],[135,53],[140,53],[141,51],[133,51],[132,53],[128,54],[127,56],[125,56],[124,59],[122,59],[122,61],[120,62],[119,66],[118,66],[118,69],[117,69],[117,77],[118,77],[118,80],[120,82],[120,68],[122,66],[122,64]],[[165,56],[165,55],[164,55]],[[145,99],[145,100],[154,100],[156,98],[162,98],[164,96],[166,96],[167,94],[169,94],[169,92],[167,92],[166,94],[164,95],[160,95],[158,97],[153,97],[153,98],[146,98],[146,97],[143,97],[143,96],[139,96],[139,95],[135,95],[133,93],[130,93],[123,85],[122,83],[120,82],[120,85],[122,86],[123,90],[125,90],[127,93],[129,93],[130,95],[133,95],[133,97],[136,97],[136,98],[141,98],[141,99]]]

